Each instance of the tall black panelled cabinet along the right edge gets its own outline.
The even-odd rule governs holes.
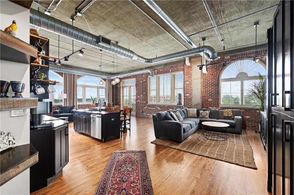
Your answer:
[[[280,1],[268,29],[268,191],[294,194],[294,1]]]

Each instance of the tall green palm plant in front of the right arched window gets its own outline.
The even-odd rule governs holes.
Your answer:
[[[252,87],[248,89],[248,95],[250,95],[249,101],[255,100],[255,105],[253,107],[258,107],[261,112],[264,111],[264,82],[265,78],[260,73],[258,73],[257,81],[253,82],[251,84]]]

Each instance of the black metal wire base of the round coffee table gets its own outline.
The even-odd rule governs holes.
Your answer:
[[[208,140],[225,141],[229,139],[229,128],[202,125],[202,136]]]

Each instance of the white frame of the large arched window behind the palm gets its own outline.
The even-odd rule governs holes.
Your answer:
[[[239,61],[242,61],[242,60],[239,60]],[[234,62],[232,62],[231,64],[233,64]],[[258,62],[260,65],[263,66],[263,68],[265,69],[266,71],[266,66],[261,63],[261,62]],[[231,65],[230,64],[230,65]],[[230,66],[228,65],[228,66]],[[227,67],[228,67],[227,66]],[[227,68],[226,67],[226,68]],[[220,74],[220,77],[219,77],[219,107],[234,107],[234,108],[252,108],[253,104],[244,104],[244,81],[250,81],[250,80],[257,80],[257,76],[258,75],[255,75],[255,76],[248,76],[248,77],[241,77],[241,78],[225,78],[225,79],[221,79],[221,76],[223,74],[223,72],[225,71],[224,68]],[[262,75],[263,78],[265,79],[266,75]],[[240,104],[221,104],[221,92],[222,92],[222,82],[233,82],[233,81],[240,81]]]

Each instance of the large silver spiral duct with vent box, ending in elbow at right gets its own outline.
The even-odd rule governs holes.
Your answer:
[[[88,33],[85,30],[82,30],[80,28],[77,28],[75,26],[72,26],[68,23],[65,23],[61,20],[58,20],[56,18],[53,18],[51,16],[48,16],[40,11],[37,11],[35,9],[30,9],[30,24],[38,26],[44,30],[48,30],[50,32],[65,36],[67,38],[71,38],[73,40],[79,41],[81,43],[85,43],[87,45],[91,45],[93,47],[96,47],[98,49],[111,52],[119,57],[128,58],[131,60],[137,60],[139,62],[143,63],[156,63],[156,62],[162,62],[165,60],[171,60],[175,58],[180,57],[186,57],[188,55],[195,55],[198,53],[207,52],[210,57],[209,60],[217,60],[219,57],[217,56],[216,51],[210,47],[199,47],[199,48],[193,48],[190,50],[184,50],[182,52],[176,52],[173,54],[163,55],[160,57],[155,58],[145,58],[140,55],[137,55],[132,50],[129,50],[127,48],[124,48],[120,45],[117,45],[115,43],[111,42],[111,47],[107,48],[104,46],[101,46],[97,43],[98,37],[96,35],[93,35],[91,33]]]

